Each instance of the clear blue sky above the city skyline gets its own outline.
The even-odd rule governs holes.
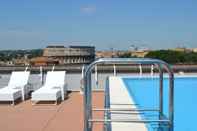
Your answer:
[[[0,50],[197,47],[196,0],[0,0]]]

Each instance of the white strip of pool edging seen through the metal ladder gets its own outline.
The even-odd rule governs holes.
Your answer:
[[[109,77],[110,107],[137,109],[121,77]],[[139,112],[112,111],[111,119],[141,120]],[[148,131],[145,123],[112,122],[111,131]]]

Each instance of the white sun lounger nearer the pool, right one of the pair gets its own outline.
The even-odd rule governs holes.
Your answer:
[[[32,102],[38,101],[55,101],[62,98],[66,91],[65,71],[49,71],[46,75],[44,86],[32,93]]]

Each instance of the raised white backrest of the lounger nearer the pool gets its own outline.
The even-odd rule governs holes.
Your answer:
[[[65,83],[65,71],[48,71],[46,75],[45,85],[61,86]]]

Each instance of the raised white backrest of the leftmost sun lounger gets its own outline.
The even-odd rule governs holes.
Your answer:
[[[11,74],[8,86],[17,87],[24,86],[28,83],[30,72],[29,71],[14,71]]]

